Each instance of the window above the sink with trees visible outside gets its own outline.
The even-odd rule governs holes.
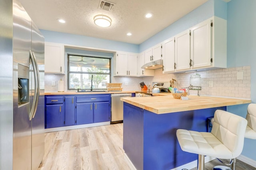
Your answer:
[[[110,72],[108,58],[68,55],[68,90],[104,90]]]

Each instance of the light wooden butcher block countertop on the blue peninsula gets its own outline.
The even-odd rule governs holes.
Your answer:
[[[251,100],[209,96],[188,96],[188,100],[174,99],[173,96],[121,98],[121,100],[156,114],[251,103]]]

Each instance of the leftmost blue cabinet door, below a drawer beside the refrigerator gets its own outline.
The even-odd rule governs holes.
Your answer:
[[[63,126],[63,104],[46,105],[46,128]]]

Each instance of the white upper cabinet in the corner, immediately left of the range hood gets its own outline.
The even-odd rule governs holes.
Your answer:
[[[138,56],[138,76],[154,76],[155,70],[141,68],[145,64],[145,53],[142,52]]]

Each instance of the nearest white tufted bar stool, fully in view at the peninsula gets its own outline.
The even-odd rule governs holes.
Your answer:
[[[227,111],[216,110],[211,132],[178,129],[176,135],[183,151],[198,154],[198,170],[204,170],[204,156],[233,159],[244,145],[247,120]]]

